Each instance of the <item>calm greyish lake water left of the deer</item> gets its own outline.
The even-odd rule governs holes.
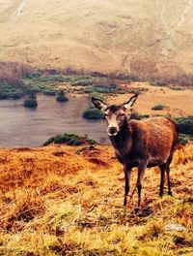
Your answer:
[[[100,144],[109,144],[104,120],[87,120],[85,97],[58,103],[55,97],[38,95],[36,110],[23,108],[23,100],[0,101],[0,146],[40,146],[57,134],[87,134]]]

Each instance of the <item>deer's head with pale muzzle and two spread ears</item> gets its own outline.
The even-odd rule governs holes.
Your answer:
[[[126,119],[126,110],[130,110],[135,103],[138,94],[132,96],[127,102],[121,105],[106,105],[101,100],[92,98],[96,109],[103,112],[107,120],[107,133],[109,136],[116,136],[124,125]]]

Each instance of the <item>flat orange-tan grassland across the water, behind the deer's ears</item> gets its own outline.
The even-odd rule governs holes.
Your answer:
[[[140,95],[134,110],[143,114],[171,114],[172,116],[187,116],[193,112],[193,90],[185,88],[184,90],[172,90],[169,87],[152,86],[149,82],[130,82],[129,84],[121,84],[128,89],[147,89]],[[121,94],[115,97],[110,96],[108,102],[121,104],[128,100],[131,95]],[[153,111],[154,105],[164,105],[166,108],[163,111]]]

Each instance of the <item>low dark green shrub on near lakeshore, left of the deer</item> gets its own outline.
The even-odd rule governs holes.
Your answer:
[[[88,138],[87,135],[78,136],[76,134],[65,133],[63,135],[57,135],[48,139],[43,145],[48,144],[68,144],[68,145],[80,145],[80,144],[96,144],[96,141]]]

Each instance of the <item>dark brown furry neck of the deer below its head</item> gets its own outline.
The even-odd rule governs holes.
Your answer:
[[[122,126],[119,133],[114,136],[110,137],[111,143],[113,144],[116,151],[120,153],[128,152],[131,148],[131,131],[128,126],[127,119],[124,119],[124,125]]]

